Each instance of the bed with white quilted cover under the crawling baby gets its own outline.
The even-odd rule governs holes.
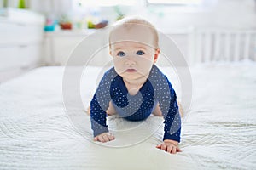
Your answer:
[[[176,155],[155,148],[163,135],[163,120],[158,116],[143,122],[108,116],[116,139],[105,144],[92,141],[86,107],[101,69],[86,68],[81,80],[84,109],[73,113],[78,124],[63,102],[64,69],[39,67],[0,84],[0,169],[256,167],[256,64],[189,68],[192,100],[182,118],[183,152]],[[182,92],[177,77],[172,77],[172,69],[163,70],[178,98]]]

